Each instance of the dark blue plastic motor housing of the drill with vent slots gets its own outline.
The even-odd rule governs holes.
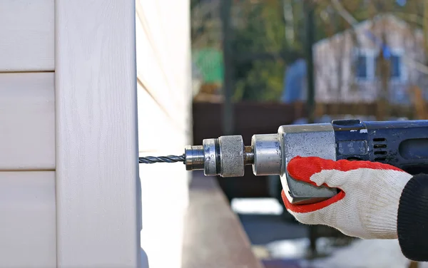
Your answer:
[[[394,165],[412,175],[428,172],[428,120],[334,120],[336,160]]]

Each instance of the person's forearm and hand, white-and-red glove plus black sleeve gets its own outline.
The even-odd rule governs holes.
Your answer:
[[[405,257],[428,261],[428,175],[412,177],[391,165],[368,161],[293,158],[296,180],[336,187],[328,200],[287,210],[308,225],[328,225],[363,239],[399,239]]]

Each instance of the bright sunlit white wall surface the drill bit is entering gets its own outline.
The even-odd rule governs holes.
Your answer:
[[[137,0],[140,155],[180,155],[191,144],[190,1]],[[189,172],[140,165],[141,246],[151,268],[180,267]]]

